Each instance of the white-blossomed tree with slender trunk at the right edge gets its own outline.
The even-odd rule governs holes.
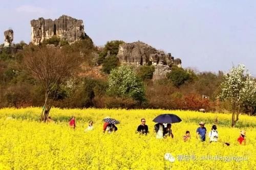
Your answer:
[[[245,103],[251,104],[253,95],[255,95],[255,82],[245,66],[240,64],[237,67],[232,67],[229,73],[224,76],[219,95],[221,100],[229,100],[232,103],[232,127],[239,120],[240,107]]]

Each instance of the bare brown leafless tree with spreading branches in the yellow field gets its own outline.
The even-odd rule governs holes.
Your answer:
[[[79,60],[79,55],[72,53],[71,56],[53,47],[33,46],[24,52],[23,64],[26,72],[42,86],[45,93],[41,121],[46,122],[57,91],[79,67]]]

